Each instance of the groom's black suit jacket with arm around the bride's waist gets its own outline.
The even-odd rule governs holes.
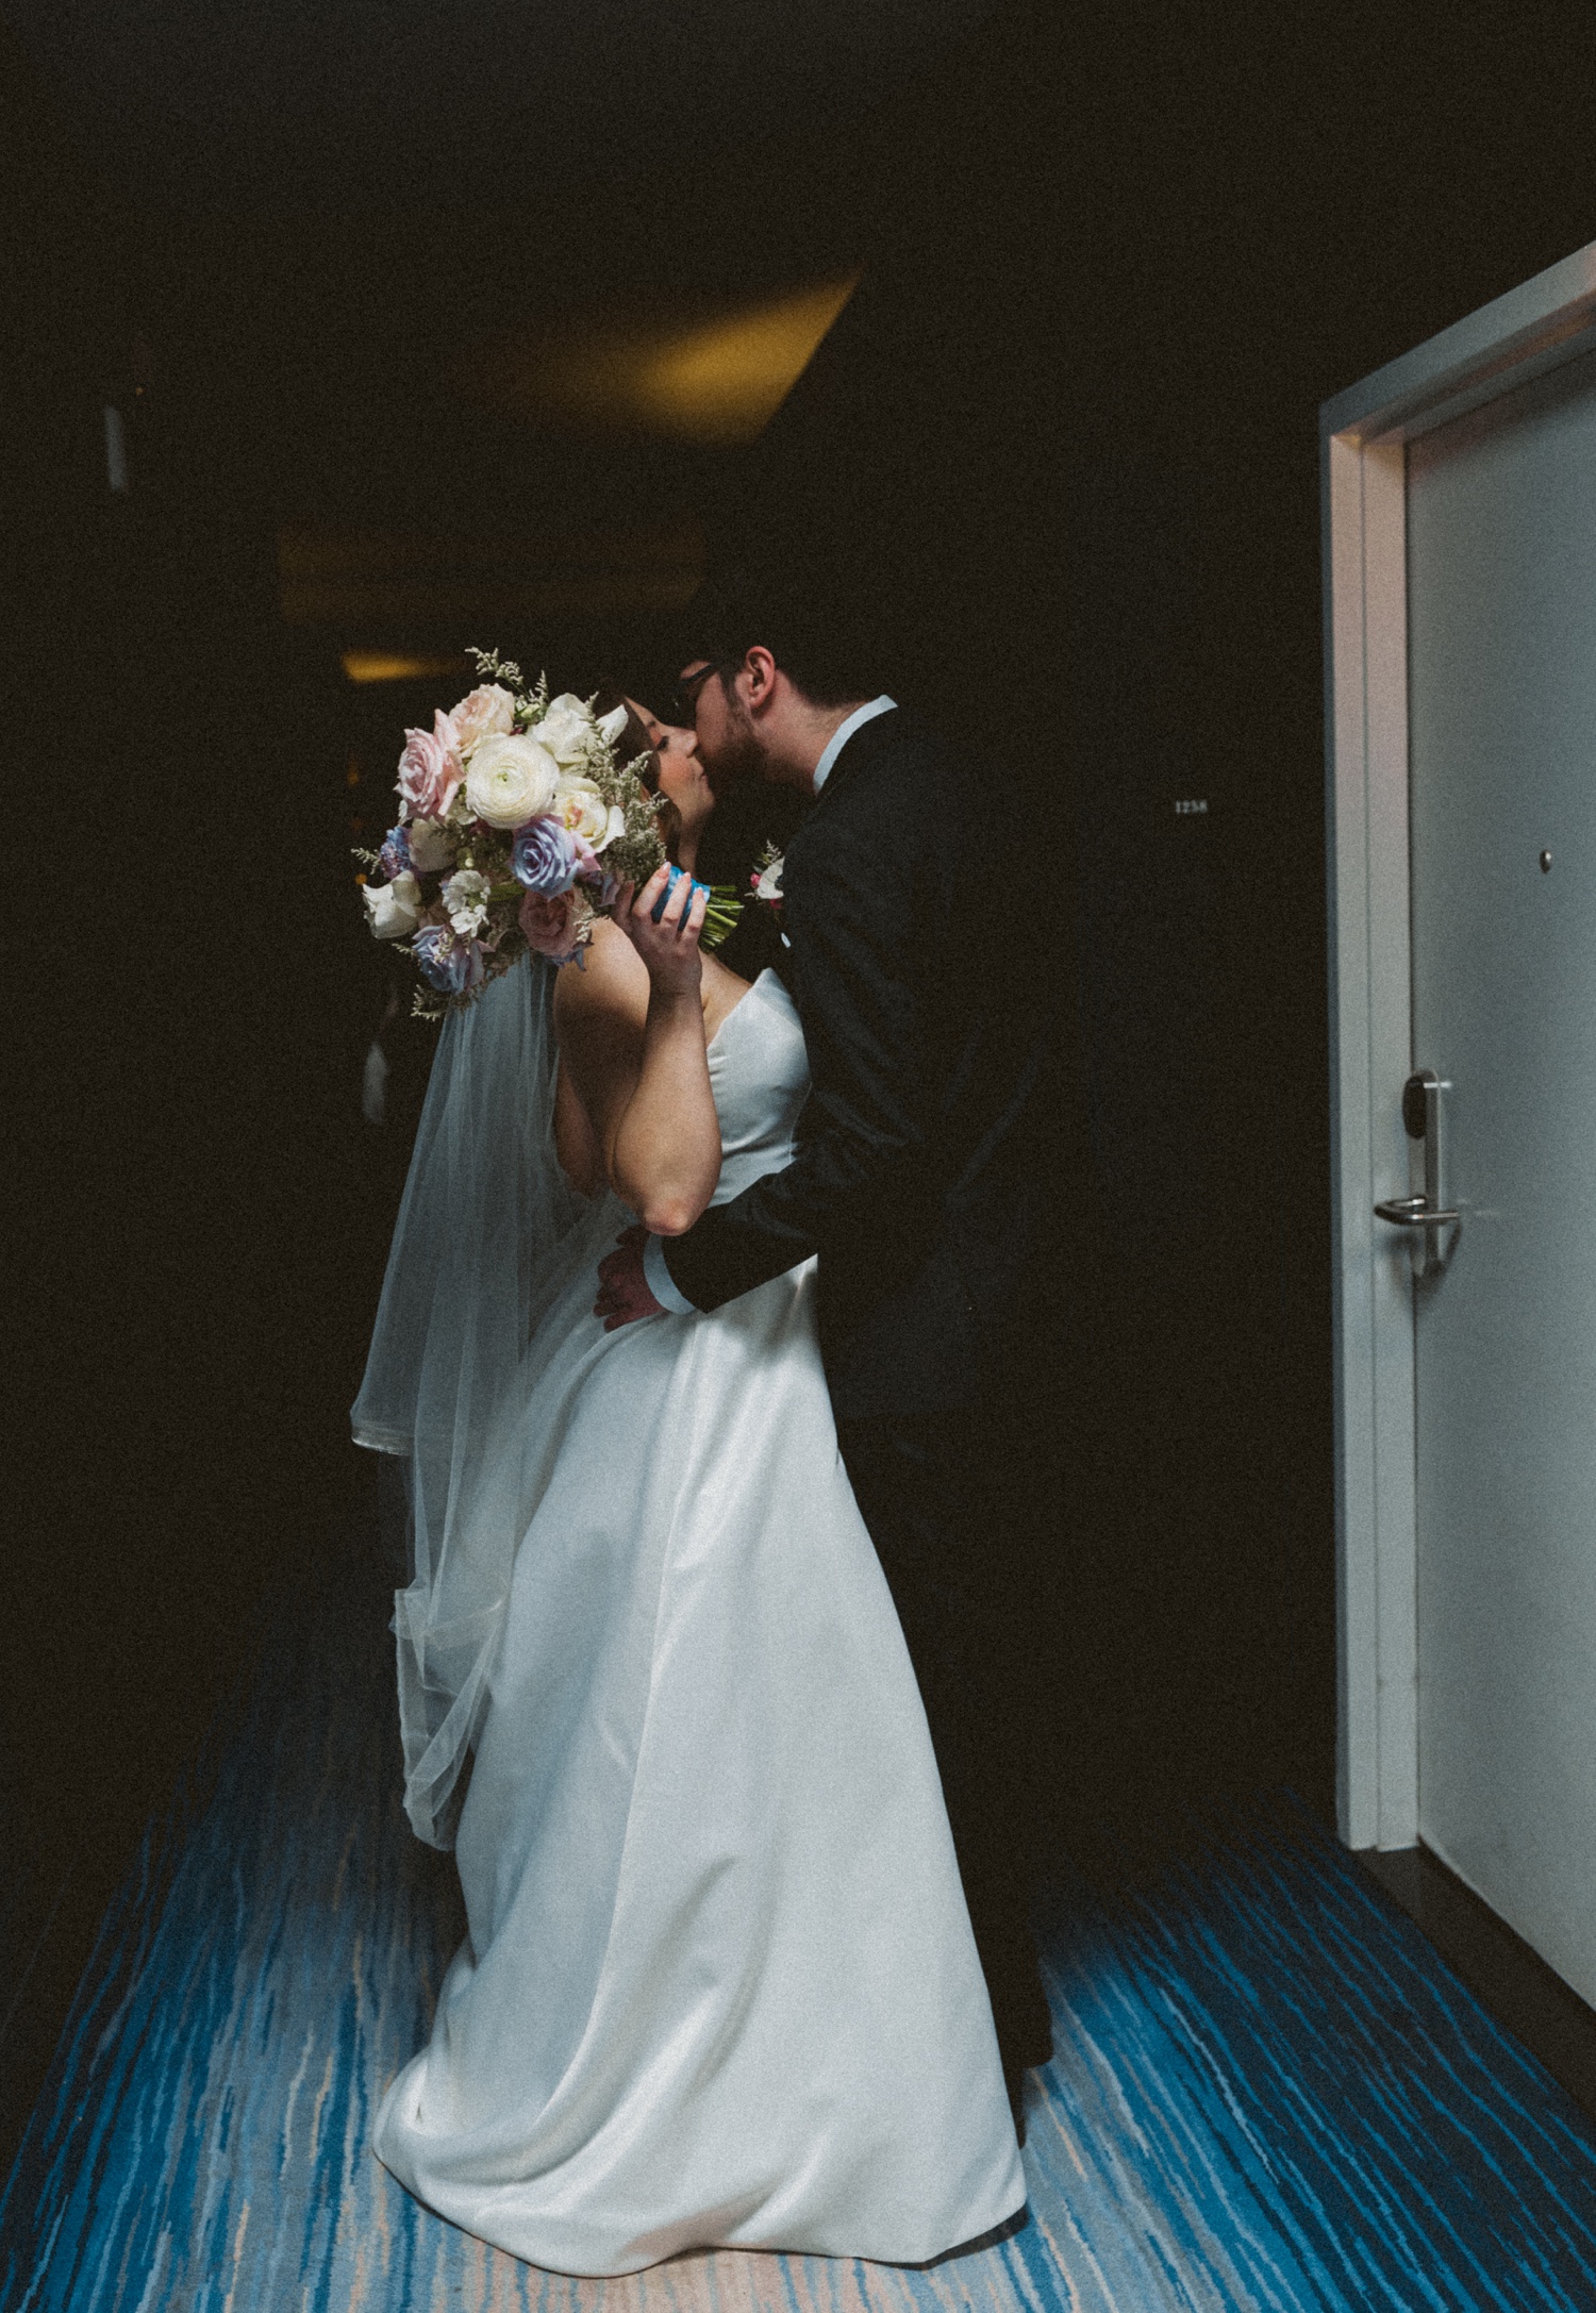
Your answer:
[[[812,1073],[798,1150],[664,1254],[699,1309],[819,1254],[840,1420],[976,1404],[1039,1379],[1052,1339],[1085,1136],[1066,974],[1034,937],[1052,902],[1011,867],[1041,833],[1002,775],[891,708],[786,849],[784,978]]]

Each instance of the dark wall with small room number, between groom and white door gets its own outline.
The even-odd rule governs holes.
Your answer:
[[[731,509],[828,537],[904,696],[1048,805],[965,840],[1078,925],[1115,1379],[1055,1647],[1110,1779],[1330,1804],[1316,412],[1596,234],[1594,32],[999,9],[867,125],[865,284]]]

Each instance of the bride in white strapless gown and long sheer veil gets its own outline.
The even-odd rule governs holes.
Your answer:
[[[696,740],[638,738],[692,870]],[[444,1027],[354,1420],[409,1457],[407,1809],[453,1834],[467,1938],[375,2149],[557,2271],[923,2262],[1025,2177],[814,1263],[712,1316],[592,1314],[618,1231],[791,1154],[796,1011],[701,921],[659,870],[581,969],[532,958]]]

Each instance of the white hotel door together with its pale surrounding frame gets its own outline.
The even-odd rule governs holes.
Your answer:
[[[1369,382],[1374,391],[1358,389],[1374,402],[1369,433],[1346,444],[1346,426],[1335,426],[1353,400],[1344,396],[1328,414],[1328,435],[1353,449],[1362,481],[1360,715],[1372,860],[1367,1177],[1349,1180],[1342,1161],[1339,1265],[1344,1582],[1355,1587],[1360,1550],[1349,1527],[1349,1515],[1353,1524],[1360,1515],[1346,1457],[1355,1427],[1349,1388],[1367,1383],[1374,1455],[1362,1508],[1372,1513],[1374,1587],[1362,1608],[1374,1631],[1360,1633],[1360,1605],[1344,1594],[1349,1649],[1372,1638],[1362,1691],[1355,1665],[1344,1665],[1344,1830],[1353,1843],[1381,1846],[1418,1834],[1596,2003],[1589,257],[1517,291],[1517,308],[1508,298],[1506,312],[1490,308],[1462,324],[1476,333],[1473,379],[1466,359],[1457,375],[1457,342],[1448,340],[1460,331],[1450,331],[1413,356],[1429,356],[1441,372],[1439,389],[1432,377],[1425,393],[1409,370],[1418,409],[1397,405],[1390,426],[1390,389],[1404,384],[1404,365],[1392,365]],[[1515,363],[1501,354],[1503,335],[1508,347],[1513,340],[1503,322],[1522,331],[1522,301],[1536,289],[1561,317],[1561,333],[1536,342],[1531,331]],[[1342,523],[1332,592],[1349,576],[1346,544]],[[1342,618],[1332,662],[1346,636]],[[1349,666],[1332,671],[1335,849],[1344,867]],[[1406,858],[1374,863],[1383,837]],[[1342,897],[1337,891],[1344,937]],[[1397,907],[1404,928],[1390,921]],[[1344,955],[1337,976],[1344,992]],[[1339,1027],[1346,1159],[1346,1018]],[[1367,1200],[1367,1235],[1353,1196]],[[1388,1214],[1376,1217],[1376,1205]],[[1434,1207],[1457,1221],[1423,1224]],[[1362,1376],[1346,1358],[1355,1335],[1346,1286],[1360,1263],[1372,1316]],[[1404,1392],[1406,1406],[1395,1402]],[[1372,1811],[1365,1788],[1362,1823],[1358,1709],[1374,1719],[1379,1786]]]

